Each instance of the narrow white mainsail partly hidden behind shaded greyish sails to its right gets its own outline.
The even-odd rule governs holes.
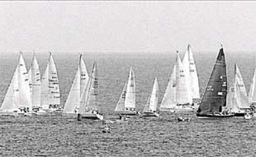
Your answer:
[[[89,78],[87,68],[85,66],[85,62],[83,61],[83,56],[80,54],[80,60],[79,60],[79,66],[80,66],[80,75],[81,75],[81,80],[80,80],[80,95],[82,95],[83,88],[85,88],[85,85],[87,83],[87,80]]]

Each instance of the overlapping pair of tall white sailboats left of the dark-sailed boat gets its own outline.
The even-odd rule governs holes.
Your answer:
[[[196,108],[193,99],[199,98],[197,69],[190,45],[181,61],[179,51],[169,78],[168,86],[160,106],[161,111],[193,110]]]

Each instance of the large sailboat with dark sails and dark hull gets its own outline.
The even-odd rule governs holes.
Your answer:
[[[223,48],[215,62],[215,66],[208,80],[202,102],[197,110],[198,117],[231,117],[234,114],[225,110],[227,97],[227,75],[226,75],[226,60]]]

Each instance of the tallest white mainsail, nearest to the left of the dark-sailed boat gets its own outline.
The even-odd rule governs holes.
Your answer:
[[[192,98],[199,99],[199,80],[197,74],[197,67],[195,66],[194,57],[192,54],[191,46],[187,46],[187,51],[189,53],[189,74],[190,74],[190,83],[191,83],[191,90],[192,90]]]

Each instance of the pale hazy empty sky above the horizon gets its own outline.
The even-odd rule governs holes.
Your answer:
[[[0,53],[256,51],[256,2],[0,2]]]

